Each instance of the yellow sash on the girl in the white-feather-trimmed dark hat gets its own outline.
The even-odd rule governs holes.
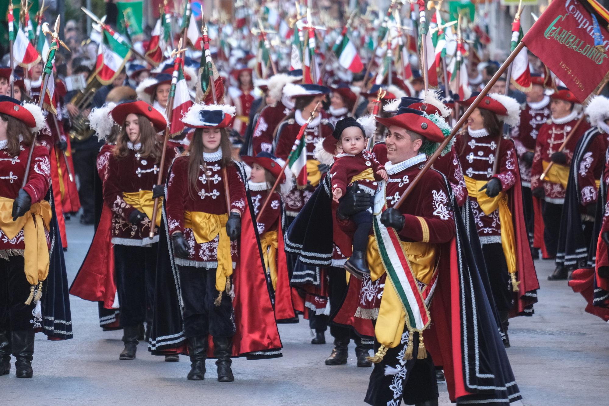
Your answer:
[[[209,214],[202,211],[185,211],[184,226],[191,228],[198,244],[209,242],[219,236],[218,267],[216,268],[216,290],[224,292],[227,278],[233,275],[233,257],[230,254],[230,239],[226,225],[228,214]]]

